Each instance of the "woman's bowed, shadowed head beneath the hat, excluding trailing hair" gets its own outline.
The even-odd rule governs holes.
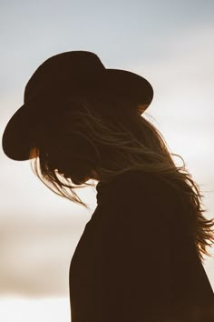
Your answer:
[[[61,104],[60,108],[53,106],[54,114],[43,117],[34,132],[31,151],[35,153],[36,148],[37,165],[39,161],[46,179],[51,175],[50,184],[59,184],[58,177],[63,177],[63,182],[68,178],[75,185],[89,178],[109,181],[137,164],[141,167],[142,159],[146,166],[155,157],[162,157],[164,162],[167,157],[172,165],[158,137],[152,136],[154,127],[137,113],[134,103],[102,94],[75,96],[56,104]],[[60,113],[56,115],[55,110]],[[140,123],[144,123],[143,131]]]

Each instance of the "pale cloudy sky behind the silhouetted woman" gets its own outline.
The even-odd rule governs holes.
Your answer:
[[[60,52],[92,51],[107,68],[130,70],[151,81],[154,99],[148,114],[170,150],[184,158],[204,192],[207,216],[213,217],[213,16],[212,0],[1,0],[1,136],[22,106],[24,86],[38,65]],[[68,268],[96,193],[80,193],[92,205],[89,214],[53,195],[28,162],[8,159],[2,149],[0,171],[0,303],[5,306],[10,297],[45,297],[42,312],[53,297],[67,300]],[[205,269],[214,289],[214,258]],[[17,303],[6,301],[11,308]],[[13,321],[13,309],[1,312],[1,321]]]

